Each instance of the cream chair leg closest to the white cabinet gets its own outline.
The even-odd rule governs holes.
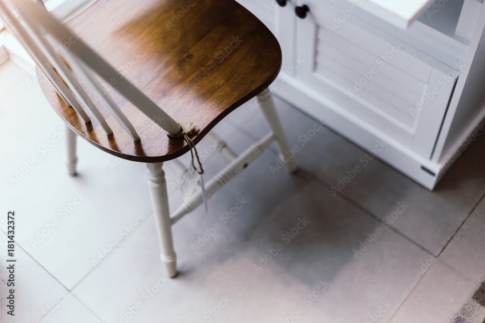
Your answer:
[[[276,113],[275,104],[273,102],[273,97],[268,89],[258,94],[258,104],[263,111],[264,117],[268,122],[271,131],[275,136],[276,143],[279,148],[279,157],[282,161],[288,160],[286,166],[290,169],[290,172],[295,172],[297,170],[296,158],[294,152],[291,151],[290,144],[286,139],[285,132],[279,121],[278,115]],[[287,154],[285,154],[287,152]],[[292,157],[290,157],[292,156]]]

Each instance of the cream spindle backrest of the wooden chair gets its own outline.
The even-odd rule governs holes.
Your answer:
[[[175,135],[181,131],[180,124],[129,80],[120,77],[112,65],[51,15],[42,4],[35,0],[0,0],[0,19],[27,50],[56,92],[67,105],[79,113],[84,122],[90,122],[90,118],[79,102],[91,111],[108,135],[113,133],[73,72],[89,91],[97,96],[101,104],[111,113],[113,119],[129,133],[133,140],[140,139],[135,128],[97,77],[101,77],[110,84],[114,90],[169,134]],[[69,44],[69,46],[63,44]],[[60,48],[63,48],[62,56]],[[63,80],[74,92],[75,97],[65,86]]]

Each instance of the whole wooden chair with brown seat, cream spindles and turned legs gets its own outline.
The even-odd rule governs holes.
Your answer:
[[[65,25],[35,1],[0,0],[0,13],[36,62],[40,87],[67,125],[69,174],[76,174],[77,136],[146,163],[170,277],[177,275],[171,226],[203,194],[198,189],[171,216],[163,162],[192,153],[192,143],[256,95],[272,132],[239,156],[221,143],[232,161],[207,181],[207,196],[273,141],[287,158],[290,147],[265,90],[279,72],[281,49],[236,1],[98,0]],[[294,159],[287,165],[296,169]]]

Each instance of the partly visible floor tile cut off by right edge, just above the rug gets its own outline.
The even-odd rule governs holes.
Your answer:
[[[453,235],[440,259],[466,277],[481,282],[485,278],[484,241],[485,199]]]

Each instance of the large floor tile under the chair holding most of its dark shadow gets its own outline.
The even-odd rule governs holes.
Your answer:
[[[177,279],[165,282],[150,219],[73,293],[105,322],[120,320],[137,303],[130,322],[161,316],[170,322],[207,322],[209,310],[218,311],[220,297],[226,296],[230,301],[214,322],[279,322],[299,306],[302,322],[360,322],[383,301],[392,304],[390,317],[416,284],[413,269],[426,253],[311,179],[272,176],[273,160],[273,154],[263,154],[252,171],[214,196],[209,215],[199,208],[174,226]],[[247,204],[225,221],[223,214],[237,198]],[[282,234],[303,218],[307,227],[299,225],[301,231],[286,244]],[[205,245],[191,247],[217,223],[221,229],[206,235]],[[352,249],[377,228],[383,232],[356,259]],[[278,254],[259,263],[276,244],[283,246]],[[255,264],[262,269],[255,271]],[[321,280],[330,284],[328,291]],[[162,287],[153,287],[157,282]],[[305,298],[319,286],[323,292],[314,300]]]

